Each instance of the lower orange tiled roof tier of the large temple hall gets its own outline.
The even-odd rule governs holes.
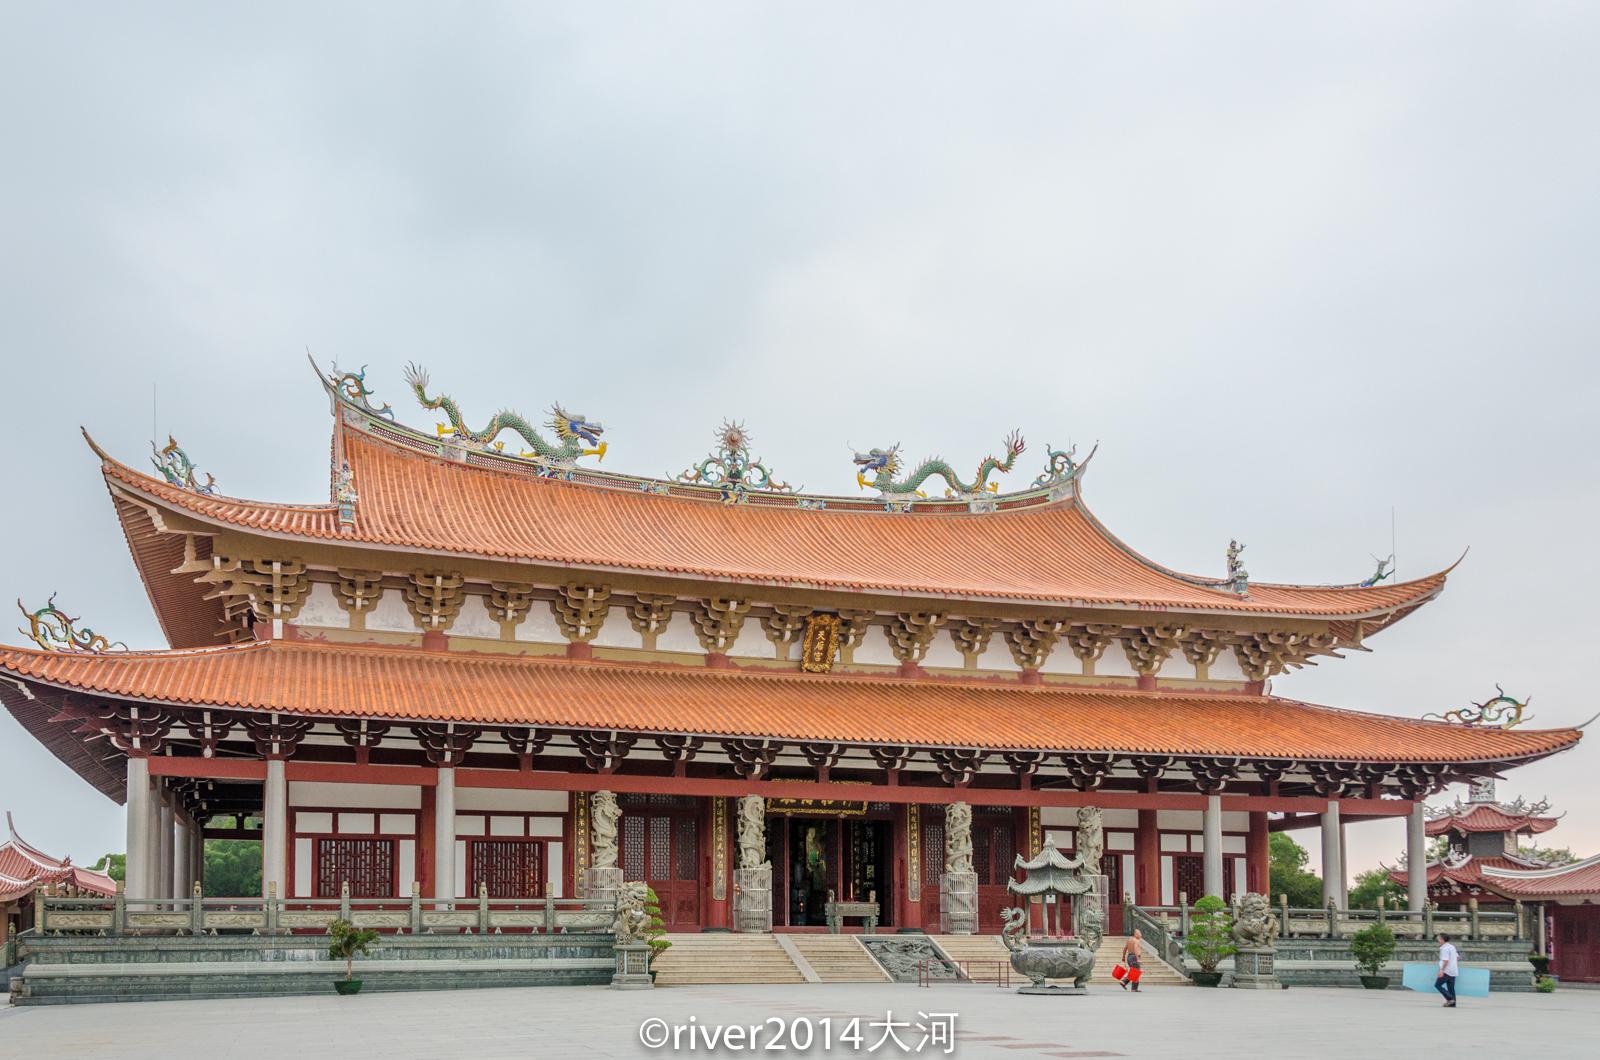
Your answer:
[[[107,697],[315,717],[994,749],[1466,764],[1542,757],[1581,735],[1472,729],[1275,697],[645,668],[294,640],[112,655],[0,648],[0,674]],[[10,682],[0,682],[0,697],[13,711],[21,698]]]

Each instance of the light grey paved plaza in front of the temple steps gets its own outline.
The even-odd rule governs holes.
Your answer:
[[[694,1055],[646,1049],[650,1017],[702,1025],[862,1017],[859,1052],[915,1055],[882,1036],[885,1012],[917,1022],[954,1010],[960,1057],[1459,1057],[1514,1038],[1528,1055],[1592,1057],[1600,991],[1496,994],[1454,1012],[1402,991],[1288,990],[1237,993],[1197,988],[1133,996],[1096,988],[1086,998],[1021,998],[990,986],[894,985],[678,986],[475,990],[171,1001],[120,1006],[0,1007],[3,1057],[648,1057]],[[878,1028],[869,1028],[870,1020]],[[918,1036],[898,1030],[914,1046]],[[701,1047],[720,1057],[744,1050]],[[794,1055],[795,1050],[787,1050]],[[832,1055],[853,1055],[835,1047]],[[813,1046],[802,1055],[824,1055]],[[930,1047],[922,1055],[942,1055]]]

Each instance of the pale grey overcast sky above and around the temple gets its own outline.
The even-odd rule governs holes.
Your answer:
[[[1093,511],[1208,575],[1237,536],[1358,580],[1394,511],[1402,576],[1467,560],[1277,692],[1600,709],[1600,10],[443,6],[5,5],[0,591],[162,645],[78,424],[325,501],[309,346],[424,428],[406,360],[474,421],[562,400],[637,474],[725,416],[818,492],[846,442],[963,468],[1016,426],[1032,479],[1099,440]],[[1594,740],[1502,785],[1581,855]],[[0,809],[123,847],[3,711]]]

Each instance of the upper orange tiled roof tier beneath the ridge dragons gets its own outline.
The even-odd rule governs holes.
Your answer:
[[[346,533],[331,504],[202,496],[109,458],[104,472],[114,493],[269,535],[749,584],[1362,618],[1432,599],[1446,573],[1373,588],[1251,583],[1238,596],[1138,556],[1075,495],[984,514],[717,504],[467,466],[341,431],[360,493]]]

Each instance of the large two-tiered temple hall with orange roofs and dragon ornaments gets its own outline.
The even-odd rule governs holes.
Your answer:
[[[1450,572],[1275,584],[1234,544],[1226,575],[1179,573],[1090,512],[1086,458],[1050,452],[1002,493],[1018,436],[971,480],[858,453],[866,492],[818,496],[738,424],[643,479],[586,463],[602,428],[560,408],[472,431],[411,370],[450,420],[416,431],[360,375],[318,378],[326,501],[232,498],[176,444],[149,474],[90,442],[170,647],[48,607],[38,647],[0,648],[6,708],[126,805],[130,897],[187,893],[208,821],[235,817],[288,900],[573,895],[616,807],[618,868],[674,930],[818,927],[835,892],[888,929],[966,901],[994,932],[1016,855],[1070,849],[1094,805],[1115,932],[1125,900],[1267,890],[1277,828],[1322,829],[1334,898],[1352,821],[1406,818],[1422,863],[1429,793],[1581,737],[1274,695]]]

